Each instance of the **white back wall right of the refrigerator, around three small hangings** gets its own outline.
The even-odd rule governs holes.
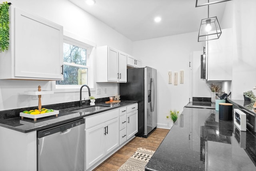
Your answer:
[[[133,55],[142,59],[142,66],[157,70],[157,127],[170,127],[172,121],[166,119],[170,109],[180,112],[190,97],[190,55],[192,51],[203,49],[203,42],[197,42],[198,32],[166,36],[133,42]],[[184,70],[184,84],[168,84],[168,72]]]

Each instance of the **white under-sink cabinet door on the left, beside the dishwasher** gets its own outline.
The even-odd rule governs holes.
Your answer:
[[[85,130],[86,169],[105,156],[105,123]]]

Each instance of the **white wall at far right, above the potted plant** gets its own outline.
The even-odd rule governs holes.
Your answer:
[[[232,99],[244,99],[243,92],[256,85],[255,7],[255,0],[234,0]]]

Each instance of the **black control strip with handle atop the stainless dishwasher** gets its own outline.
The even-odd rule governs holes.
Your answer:
[[[84,119],[79,119],[79,120],[76,120],[76,121],[64,123],[64,124],[58,125],[56,127],[52,127],[52,128],[44,129],[42,131],[38,131],[37,132],[37,137],[42,138],[42,137],[46,137],[48,135],[52,135],[54,133],[66,134],[69,131],[71,131],[72,127],[76,127],[76,126],[79,126],[79,125],[82,125],[82,124],[84,124]]]

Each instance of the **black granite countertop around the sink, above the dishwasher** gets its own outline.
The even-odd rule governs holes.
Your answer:
[[[9,129],[13,129],[16,131],[20,131],[23,133],[28,133],[31,131],[38,131],[38,130],[46,129],[46,128],[60,125],[63,123],[67,123],[70,121],[75,121],[75,120],[81,119],[81,118],[89,116],[89,115],[94,115],[96,113],[108,111],[111,109],[130,105],[132,103],[137,103],[137,102],[138,101],[122,100],[120,103],[110,103],[110,104],[106,104],[104,102],[96,103],[96,105],[108,105],[109,107],[106,107],[106,108],[103,108],[103,109],[100,109],[97,111],[86,112],[86,113],[70,111],[70,110],[76,109],[76,108],[80,109],[80,107],[71,107],[68,109],[60,109],[58,117],[55,117],[55,115],[53,115],[53,116],[38,118],[36,121],[34,121],[33,119],[30,119],[30,118],[21,119],[21,117],[13,117],[10,119],[0,120],[0,126],[6,127]],[[88,106],[90,106],[90,105],[83,105],[82,108],[88,107]]]

